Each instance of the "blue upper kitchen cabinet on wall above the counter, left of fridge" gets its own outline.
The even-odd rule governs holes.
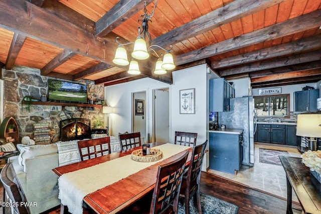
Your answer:
[[[229,112],[235,89],[224,78],[210,79],[210,112]]]

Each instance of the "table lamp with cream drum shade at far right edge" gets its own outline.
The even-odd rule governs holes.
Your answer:
[[[317,139],[321,138],[321,114],[303,113],[297,116],[296,135],[307,137],[310,150],[317,150]]]

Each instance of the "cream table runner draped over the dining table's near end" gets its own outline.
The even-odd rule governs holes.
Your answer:
[[[87,194],[124,179],[190,147],[168,143],[156,148],[163,152],[163,158],[155,162],[137,162],[131,159],[131,155],[127,155],[61,175],[58,179],[61,203],[67,205],[68,211],[71,213],[82,213],[82,201]]]

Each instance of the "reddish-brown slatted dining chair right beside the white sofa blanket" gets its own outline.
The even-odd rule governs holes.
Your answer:
[[[111,153],[110,137],[78,141],[78,151],[81,160],[88,160]]]

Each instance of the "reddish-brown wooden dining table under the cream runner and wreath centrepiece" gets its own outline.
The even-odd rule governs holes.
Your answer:
[[[164,150],[169,153],[168,155],[164,155],[164,157],[161,160],[151,162],[150,164],[146,165],[146,167],[142,166],[138,171],[135,171],[133,173],[129,172],[128,175],[124,175],[124,177],[121,178],[116,178],[115,181],[111,181],[108,183],[108,185],[103,186],[102,188],[99,188],[93,192],[90,192],[86,194],[83,197],[82,200],[82,208],[83,211],[86,211],[84,207],[90,207],[89,209],[96,213],[116,213],[119,212],[126,207],[130,206],[146,194],[150,193],[153,191],[155,182],[156,182],[156,176],[157,176],[157,171],[158,171],[158,166],[162,164],[166,164],[169,162],[172,162],[179,158],[181,155],[183,155],[184,151],[189,150],[190,154],[188,157],[188,161],[186,165],[189,164],[189,160],[191,159],[191,151],[192,147],[188,146],[181,146],[181,145],[176,145],[176,144],[171,144],[171,143],[163,143],[163,142],[154,142],[150,143],[150,148],[156,147],[156,148],[163,148]],[[127,149],[124,151],[120,152],[114,152],[108,155],[104,155],[101,157],[85,160],[85,161],[80,161],[77,163],[61,166],[52,169],[58,176],[58,184],[59,184],[59,189],[61,191],[61,183],[59,182],[59,179],[61,179],[64,176],[69,175],[70,177],[77,176],[79,177],[79,180],[82,179],[87,179],[88,177],[88,172],[82,172],[81,170],[95,170],[94,167],[97,167],[100,164],[106,164],[106,163],[118,163],[116,161],[120,161],[121,158],[127,158],[125,163],[122,163],[122,166],[116,167],[110,167],[112,169],[106,168],[106,173],[108,173],[108,176],[106,177],[113,177],[119,173],[122,173],[125,169],[128,169],[128,171],[132,170],[137,164],[137,161],[133,161],[129,159],[129,155],[137,149],[142,149],[142,146]],[[176,152],[175,152],[176,151]],[[163,151],[164,153],[164,151]],[[114,161],[114,162],[112,162]],[[119,164],[119,163],[118,163]],[[126,164],[126,166],[123,166],[123,164]],[[146,163],[142,163],[146,164]],[[110,166],[110,165],[109,165]],[[96,171],[89,171],[89,174],[95,174],[98,173],[98,168]],[[101,169],[99,170],[101,171]],[[71,174],[71,173],[77,173],[77,174]],[[71,176],[72,175],[72,176]],[[97,182],[95,180],[95,176],[90,177],[91,182]],[[86,184],[80,184],[80,183],[73,183],[73,179],[68,180],[67,188],[70,186],[70,189],[67,189],[67,193],[69,194],[69,197],[73,197],[74,195],[76,196],[78,194],[77,191],[74,191],[74,189],[77,189],[78,187],[81,187]],[[79,181],[78,181],[79,182]],[[104,184],[102,184],[104,185]],[[66,188],[66,187],[65,187]],[[66,193],[66,191],[65,191]],[[61,197],[61,192],[59,194]],[[60,198],[61,199],[61,198]],[[62,200],[63,204],[63,200]],[[69,209],[68,204],[63,204],[67,205]],[[63,207],[63,206],[62,206]],[[61,210],[62,211],[62,210]]]

